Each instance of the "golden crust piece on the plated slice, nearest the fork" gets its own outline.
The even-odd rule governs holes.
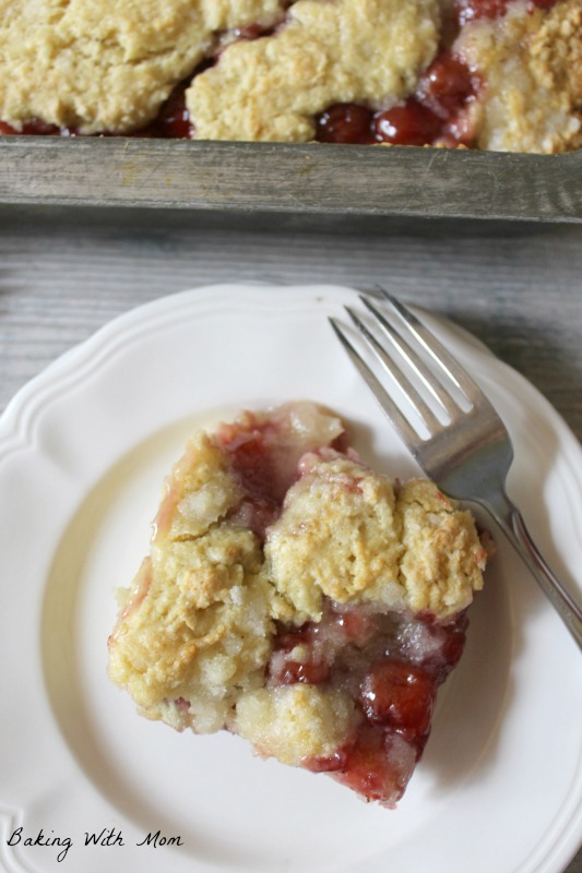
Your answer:
[[[459,612],[483,585],[485,553],[470,513],[428,480],[394,492],[347,458],[304,462],[269,531],[265,557],[296,621],[319,621],[324,598],[379,609]]]

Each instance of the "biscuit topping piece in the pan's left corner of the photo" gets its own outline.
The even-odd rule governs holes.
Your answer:
[[[281,0],[0,0],[0,119],[81,133],[151,121],[215,33],[282,14]]]

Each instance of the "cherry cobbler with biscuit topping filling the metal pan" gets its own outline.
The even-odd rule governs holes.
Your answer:
[[[0,133],[560,153],[582,0],[0,0]]]

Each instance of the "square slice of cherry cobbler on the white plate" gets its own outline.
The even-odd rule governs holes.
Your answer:
[[[335,416],[244,412],[168,477],[110,675],[149,718],[224,728],[392,806],[485,563],[467,511],[373,473]]]

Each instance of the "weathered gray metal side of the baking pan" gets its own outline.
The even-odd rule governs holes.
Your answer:
[[[206,226],[262,217],[582,222],[582,153],[545,156],[431,147],[0,136],[0,204],[21,215],[150,215]]]

